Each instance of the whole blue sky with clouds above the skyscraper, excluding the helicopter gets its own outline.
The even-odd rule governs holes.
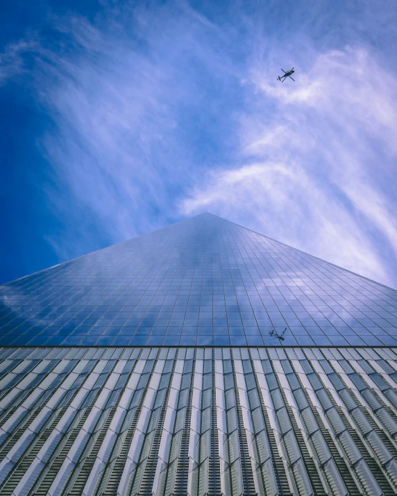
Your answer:
[[[0,14],[0,282],[208,211],[397,287],[394,0]]]

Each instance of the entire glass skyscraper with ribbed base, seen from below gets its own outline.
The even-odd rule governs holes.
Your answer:
[[[1,495],[394,495],[397,291],[212,214],[0,287]]]

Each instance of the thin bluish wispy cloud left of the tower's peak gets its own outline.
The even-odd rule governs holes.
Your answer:
[[[37,138],[49,164],[39,187],[64,223],[47,240],[67,259],[180,219],[174,200],[219,150],[210,128],[239,78],[221,53],[224,33],[187,3],[126,3],[95,23],[55,18],[51,30],[21,44],[8,73],[29,59],[50,121]]]

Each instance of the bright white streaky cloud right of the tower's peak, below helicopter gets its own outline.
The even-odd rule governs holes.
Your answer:
[[[268,74],[253,70],[255,108],[242,117],[236,166],[213,171],[181,209],[396,286],[396,80],[351,48],[318,55],[296,83]]]

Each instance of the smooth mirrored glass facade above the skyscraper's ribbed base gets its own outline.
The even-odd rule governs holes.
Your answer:
[[[394,346],[397,291],[203,214],[3,284],[0,345]]]

